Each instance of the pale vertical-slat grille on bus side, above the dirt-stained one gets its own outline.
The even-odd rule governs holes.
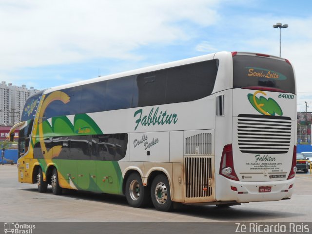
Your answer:
[[[212,138],[211,133],[200,133],[185,138],[186,155],[211,155]]]

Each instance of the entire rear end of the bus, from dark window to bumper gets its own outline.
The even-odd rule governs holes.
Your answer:
[[[296,88],[286,59],[233,55],[232,144],[224,146],[220,200],[290,198],[296,172]]]

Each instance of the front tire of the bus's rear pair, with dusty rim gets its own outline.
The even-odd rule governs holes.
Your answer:
[[[143,186],[142,178],[137,173],[132,173],[127,178],[125,194],[132,207],[144,207],[151,200],[149,187]]]

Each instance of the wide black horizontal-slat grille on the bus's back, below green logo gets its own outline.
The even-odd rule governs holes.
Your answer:
[[[285,154],[291,143],[289,117],[239,115],[238,146],[242,153]]]

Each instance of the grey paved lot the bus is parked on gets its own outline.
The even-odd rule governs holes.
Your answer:
[[[291,200],[231,208],[180,205],[172,213],[128,206],[124,196],[67,191],[40,194],[36,184],[17,181],[16,165],[0,165],[0,222],[33,221],[312,221],[312,176],[298,173]]]

